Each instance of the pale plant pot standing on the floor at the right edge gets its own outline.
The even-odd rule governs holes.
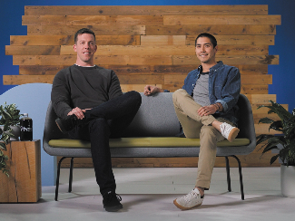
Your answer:
[[[284,197],[295,197],[295,166],[280,165],[280,190]]]

